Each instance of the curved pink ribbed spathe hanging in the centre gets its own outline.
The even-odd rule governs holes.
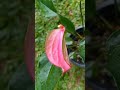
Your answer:
[[[63,53],[67,50],[65,47],[66,45],[63,45],[65,28],[63,25],[59,25],[58,27],[59,29],[51,31],[48,35],[45,43],[45,52],[49,61],[53,65],[62,68],[63,73],[65,73],[71,67],[68,63],[68,55]]]

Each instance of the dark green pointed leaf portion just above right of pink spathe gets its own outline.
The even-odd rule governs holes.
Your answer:
[[[61,24],[65,26],[66,31],[75,35],[76,31],[75,31],[75,26],[73,25],[73,23],[66,17],[61,16],[60,14],[59,14],[59,17],[60,17],[60,22]]]

